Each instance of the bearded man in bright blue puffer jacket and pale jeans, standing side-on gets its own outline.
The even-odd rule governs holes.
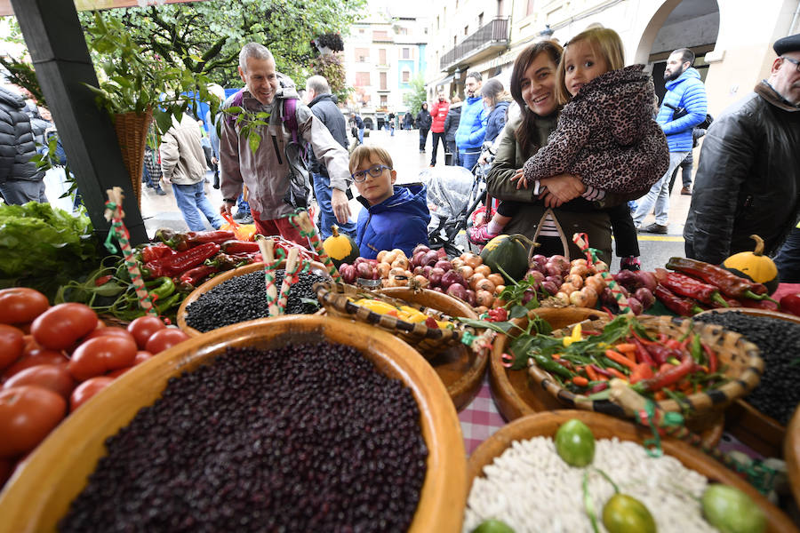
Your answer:
[[[667,135],[669,168],[664,177],[651,187],[650,192],[639,200],[633,219],[640,231],[667,233],[669,178],[672,176],[672,171],[692,151],[692,129],[706,119],[708,112],[706,87],[700,81],[700,73],[692,68],[693,62],[694,53],[687,48],[672,52],[667,60],[667,68],[664,70],[667,93],[664,95],[656,122]],[[691,194],[688,187],[684,187],[681,192]],[[642,227],[642,220],[653,208],[655,208],[655,222],[648,227]]]

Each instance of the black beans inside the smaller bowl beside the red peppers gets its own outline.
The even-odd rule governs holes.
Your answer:
[[[325,281],[327,278],[318,274],[300,274],[299,281],[289,290],[285,313],[316,313],[319,306],[316,303],[303,302],[303,299],[316,302],[316,292],[312,286],[316,282]],[[278,292],[281,290],[282,282],[284,282],[284,270],[276,270]],[[186,323],[203,333],[266,316],[268,316],[267,290],[262,271],[239,275],[221,282],[186,308]]]

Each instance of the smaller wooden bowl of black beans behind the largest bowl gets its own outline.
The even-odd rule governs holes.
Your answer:
[[[284,282],[285,260],[276,270],[276,287]],[[322,263],[309,262],[308,272],[301,272],[292,284],[285,314],[314,314],[319,310],[316,282],[327,282],[331,276]],[[252,263],[212,277],[193,290],[178,308],[178,327],[189,337],[224,328],[231,324],[268,317],[267,288],[264,264]]]

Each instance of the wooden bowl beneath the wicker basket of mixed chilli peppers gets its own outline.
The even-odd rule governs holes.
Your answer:
[[[584,320],[604,318],[604,311],[588,307],[540,307],[533,309],[530,316],[540,316],[549,322],[553,330],[560,330]],[[521,327],[527,319],[518,319]],[[508,350],[508,337],[499,335],[492,346],[489,367],[489,384],[492,386],[492,398],[497,404],[500,414],[507,420],[532,415],[540,411],[564,410],[564,404],[556,400],[538,386],[528,374],[528,370],[510,370],[503,366],[502,354]],[[706,415],[687,420],[692,431],[700,433],[703,442],[713,448],[719,443],[724,431],[724,416],[721,411],[712,411]]]

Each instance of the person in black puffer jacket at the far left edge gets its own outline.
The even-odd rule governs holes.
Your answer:
[[[0,193],[6,203],[47,202],[44,171],[30,161],[36,141],[25,99],[0,87]]]

